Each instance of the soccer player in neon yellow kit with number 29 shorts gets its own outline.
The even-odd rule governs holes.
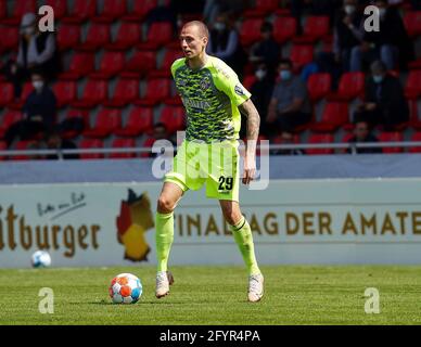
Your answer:
[[[174,240],[174,209],[186,191],[199,190],[206,183],[206,196],[219,201],[242,254],[248,271],[247,296],[254,303],[263,297],[264,277],[257,266],[250,224],[239,205],[237,140],[241,112],[247,117],[242,182],[248,184],[256,171],[260,117],[250,99],[251,93],[240,83],[237,74],[221,60],[206,54],[208,38],[204,23],[187,23],[180,34],[184,57],[176,60],[171,65],[171,74],[188,118],[186,139],[174,158],[173,169],[165,175],[157,202],[155,295],[157,298],[167,295],[174,281],[167,270]]]

